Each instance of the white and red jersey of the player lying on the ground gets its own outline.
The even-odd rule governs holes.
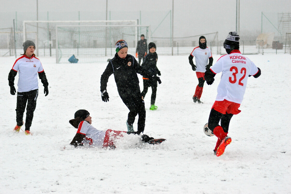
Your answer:
[[[97,147],[103,147],[105,131],[97,130],[95,127],[90,125],[87,121],[80,122],[77,133],[86,135],[82,143],[94,145]]]

